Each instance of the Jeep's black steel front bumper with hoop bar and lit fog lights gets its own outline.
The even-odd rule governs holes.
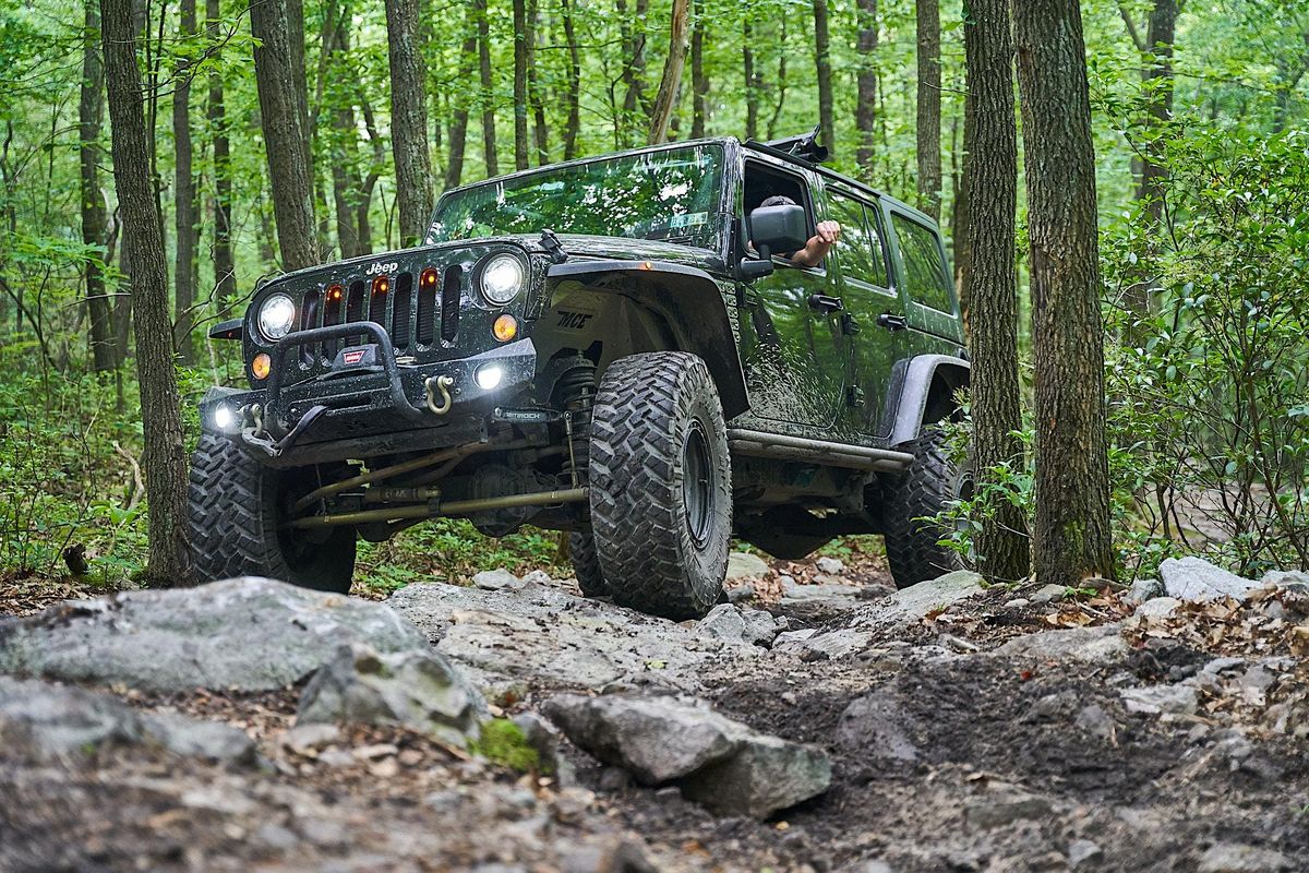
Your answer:
[[[293,349],[359,336],[367,336],[376,348],[370,365],[343,366],[288,385],[300,366]],[[238,414],[228,433],[275,466],[484,438],[487,418],[496,407],[520,402],[537,374],[537,349],[530,339],[448,361],[402,364],[395,360],[390,336],[374,322],[288,334],[274,346],[271,357],[263,386],[249,391],[211,389],[200,402],[200,420],[206,429],[217,429],[213,412],[225,404]],[[493,389],[482,389],[474,378],[483,366],[501,370]],[[428,403],[429,387],[436,389],[437,380],[450,401],[442,414],[433,408],[446,404]],[[276,452],[270,453],[270,446]]]

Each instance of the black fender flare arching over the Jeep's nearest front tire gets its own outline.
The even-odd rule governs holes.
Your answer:
[[[627,297],[657,314],[673,331],[677,351],[699,355],[719,389],[729,420],[745,412],[749,398],[737,347],[736,325],[713,276],[686,264],[661,260],[569,260],[552,264],[546,293],[562,281]]]

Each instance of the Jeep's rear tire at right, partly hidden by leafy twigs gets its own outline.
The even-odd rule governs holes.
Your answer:
[[[925,428],[902,446],[914,455],[914,463],[890,479],[884,491],[886,560],[897,588],[963,568],[958,552],[937,544],[941,529],[922,521],[963,496],[973,482],[971,462],[953,462],[946,449],[945,432]]]

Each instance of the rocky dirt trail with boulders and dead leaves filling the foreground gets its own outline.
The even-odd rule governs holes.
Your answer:
[[[0,619],[0,870],[1309,869],[1309,576],[781,569]]]

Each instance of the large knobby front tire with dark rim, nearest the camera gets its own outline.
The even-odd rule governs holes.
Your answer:
[[[620,606],[699,618],[732,539],[732,459],[717,389],[685,352],[631,355],[601,378],[590,421],[590,524]]]

